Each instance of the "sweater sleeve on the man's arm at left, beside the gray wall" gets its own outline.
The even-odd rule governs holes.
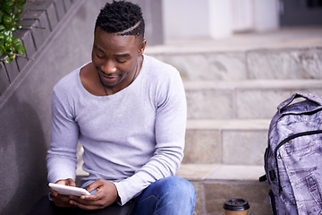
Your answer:
[[[59,90],[58,90],[59,94]],[[48,181],[76,177],[78,125],[73,120],[71,107],[67,107],[64,93],[52,97],[52,133],[50,150],[47,151]]]

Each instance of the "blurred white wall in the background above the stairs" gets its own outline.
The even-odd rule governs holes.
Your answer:
[[[278,0],[163,0],[165,39],[222,39],[279,27]]]

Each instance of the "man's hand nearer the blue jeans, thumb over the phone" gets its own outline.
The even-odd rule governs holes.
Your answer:
[[[97,193],[91,195],[71,195],[70,203],[83,210],[103,209],[119,200],[116,186],[112,182],[98,179],[86,188],[89,193],[97,189]]]

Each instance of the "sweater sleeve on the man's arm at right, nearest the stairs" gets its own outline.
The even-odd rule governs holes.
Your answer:
[[[179,73],[157,91],[156,150],[133,176],[114,183],[122,205],[156,180],[174,176],[183,158],[187,105]]]

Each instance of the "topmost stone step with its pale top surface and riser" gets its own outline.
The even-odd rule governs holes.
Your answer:
[[[310,28],[227,39],[169,39],[145,53],[173,64],[187,81],[322,79],[321,36],[321,28]]]

